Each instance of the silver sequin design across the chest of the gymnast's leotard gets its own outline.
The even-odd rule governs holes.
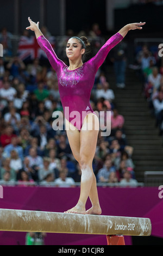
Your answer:
[[[76,86],[83,77],[83,66],[73,72],[67,71],[67,66],[63,69],[59,76],[59,82],[62,86]]]

